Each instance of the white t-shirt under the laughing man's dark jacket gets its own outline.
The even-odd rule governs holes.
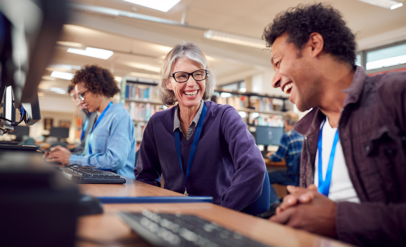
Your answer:
[[[324,123],[324,121],[323,121]],[[322,153],[321,164],[323,171],[323,180],[326,178],[328,161],[330,160],[331,148],[333,147],[334,136],[337,128],[332,128],[326,117],[326,123],[323,126],[322,133]],[[314,185],[318,188],[318,148],[316,152],[314,169]],[[340,140],[337,143],[336,153],[334,156],[333,169],[331,173],[330,190],[328,198],[334,202],[352,202],[359,203],[359,198],[356,195],[353,183],[351,182],[348,168],[344,160],[343,148],[341,147]]]

